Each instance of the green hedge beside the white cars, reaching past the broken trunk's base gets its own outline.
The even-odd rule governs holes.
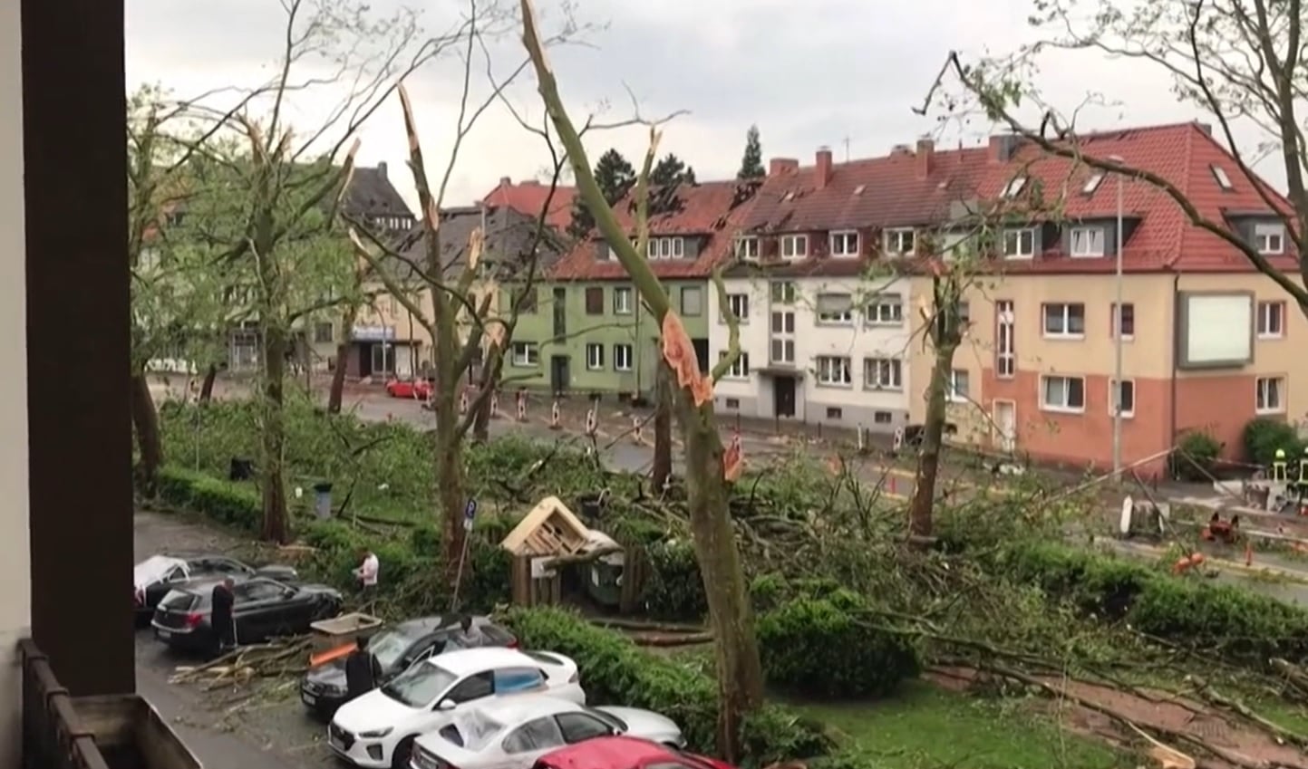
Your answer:
[[[613,630],[560,608],[510,608],[504,621],[528,649],[566,654],[577,662],[593,704],[620,704],[663,713],[680,726],[692,749],[710,752],[717,731],[717,684],[674,659],[642,651]],[[744,755],[753,765],[821,756],[832,749],[823,726],[765,705],[743,726]]]

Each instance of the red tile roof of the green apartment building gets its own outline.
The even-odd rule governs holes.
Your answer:
[[[653,260],[654,275],[667,279],[708,277],[713,268],[734,254],[735,235],[757,200],[759,182],[704,182],[679,184],[663,191],[675,196],[667,213],[649,217],[650,235],[705,235],[696,259]],[[658,192],[655,192],[657,195]],[[634,239],[634,191],[617,201],[613,213]],[[577,243],[551,271],[559,280],[617,280],[627,271],[617,262],[596,258],[599,239],[594,234]]]

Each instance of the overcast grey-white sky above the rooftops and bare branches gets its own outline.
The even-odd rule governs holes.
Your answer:
[[[557,0],[539,3],[543,24],[551,26],[560,5]],[[388,13],[400,3],[375,0],[371,5]],[[409,7],[421,10],[432,34],[466,10],[458,0]],[[131,0],[127,10],[131,85],[160,82],[178,95],[256,85],[280,55],[285,16],[277,0]],[[687,110],[688,115],[666,127],[661,154],[675,152],[695,166],[700,179],[709,179],[730,177],[739,167],[751,123],[761,131],[764,158],[798,157],[806,163],[819,145],[829,145],[837,160],[845,158],[846,148],[858,158],[939,132],[934,115],[918,116],[912,107],[921,105],[946,54],[951,48],[971,54],[986,47],[1012,50],[1029,39],[1029,0],[576,0],[576,18],[593,29],[582,37],[585,44],[556,48],[552,60],[574,119],[606,102],[599,119],[629,116],[628,86],[646,116]],[[521,42],[508,37],[494,43],[492,58],[497,75],[511,72],[523,58]],[[1205,119],[1192,105],[1176,102],[1160,73],[1139,64],[1076,54],[1063,61],[1049,59],[1045,72],[1040,85],[1063,109],[1076,107],[1088,93],[1103,94],[1108,102],[1084,109],[1078,116],[1082,127]],[[429,174],[442,173],[450,156],[460,78],[462,64],[446,56],[408,81]],[[509,98],[539,123],[534,89],[528,69]],[[487,93],[479,63],[472,99]],[[326,88],[296,94],[293,115],[307,131],[340,95],[340,89]],[[399,112],[392,101],[365,124],[358,160],[362,165],[388,162],[391,178],[412,200]],[[973,124],[960,132],[951,126],[942,140],[976,144],[988,128]],[[641,128],[595,133],[587,139],[587,150],[594,160],[617,146],[636,163],[645,139]],[[542,140],[496,105],[464,140],[446,203],[471,203],[501,177],[532,178],[547,166]],[[1279,186],[1283,173],[1273,166],[1264,170]]]

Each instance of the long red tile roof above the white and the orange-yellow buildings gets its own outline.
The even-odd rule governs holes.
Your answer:
[[[1090,195],[1082,187],[1097,171],[1052,154],[1032,143],[1018,144],[1007,161],[999,161],[995,148],[935,150],[929,143],[916,152],[900,150],[887,157],[831,163],[825,186],[819,188],[818,166],[769,175],[746,228],[759,233],[829,231],[855,228],[918,226],[943,224],[955,203],[998,200],[1015,177],[1025,175],[1027,190],[1039,180],[1046,201],[1062,204],[1062,216],[1112,218],[1117,214],[1117,180],[1112,175]],[[1245,178],[1231,154],[1198,123],[1179,123],[1108,131],[1078,137],[1082,154],[1107,160],[1122,158],[1126,166],[1151,171],[1184,192],[1198,212],[1216,222],[1232,213],[1266,213],[1271,209]],[[927,156],[927,157],[923,157]],[[829,157],[829,156],[828,156]],[[923,162],[929,161],[929,162]],[[819,162],[821,162],[819,160]],[[1213,166],[1224,170],[1232,190],[1223,190]],[[923,173],[926,171],[926,173]],[[1129,271],[1248,271],[1244,255],[1218,235],[1192,226],[1181,208],[1162,190],[1142,180],[1125,179],[1122,209],[1139,225],[1130,231],[1122,250]],[[1270,186],[1264,188],[1270,191]],[[1275,191],[1271,199],[1288,211],[1288,203]],[[1287,241],[1287,247],[1290,246]],[[1054,243],[1033,260],[1005,260],[1005,271],[1097,272],[1112,271],[1114,259],[1070,259]],[[854,271],[858,259],[829,260],[833,264],[795,264],[787,269],[804,273],[844,273]],[[836,264],[844,262],[844,264]],[[1273,258],[1278,267],[1294,269],[1294,256]]]

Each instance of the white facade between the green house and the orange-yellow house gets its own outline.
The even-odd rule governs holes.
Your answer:
[[[912,297],[904,279],[729,277],[740,360],[715,387],[718,413],[893,432],[908,424]],[[709,292],[710,357],[730,348]]]

